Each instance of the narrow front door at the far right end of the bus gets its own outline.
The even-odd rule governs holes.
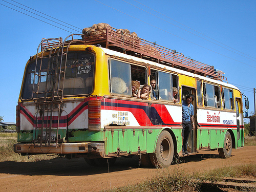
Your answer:
[[[243,130],[243,112],[242,100],[236,98],[236,112],[237,112],[237,147],[244,145],[244,130]]]

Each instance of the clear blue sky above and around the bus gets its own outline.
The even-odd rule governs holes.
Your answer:
[[[29,57],[36,54],[41,39],[65,38],[71,33],[81,33],[83,28],[98,23],[108,23],[117,29],[129,29],[131,32],[136,32],[140,38],[157,41],[158,45],[175,49],[187,57],[215,66],[216,69],[225,72],[229,83],[245,93],[250,101],[249,112],[254,112],[253,88],[256,88],[254,80],[256,1],[254,0],[15,1],[17,3],[0,0],[2,4],[0,5],[0,116],[4,116],[5,122],[15,122],[15,106],[25,65]]]

